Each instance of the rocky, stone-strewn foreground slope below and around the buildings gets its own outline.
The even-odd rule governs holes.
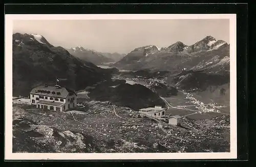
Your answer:
[[[44,111],[13,105],[13,152],[229,152],[229,117],[181,126],[156,122],[126,107],[91,101],[81,111]]]

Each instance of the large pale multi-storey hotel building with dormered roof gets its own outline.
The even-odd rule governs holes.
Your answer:
[[[66,111],[77,106],[77,94],[58,85],[38,86],[30,92],[30,103],[41,109]]]

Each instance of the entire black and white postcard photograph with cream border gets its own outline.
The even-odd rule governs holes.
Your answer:
[[[235,14],[6,15],[5,36],[10,159],[236,158]]]

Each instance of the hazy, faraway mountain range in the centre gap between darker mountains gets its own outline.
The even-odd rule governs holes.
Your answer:
[[[95,65],[116,62],[125,56],[124,54],[119,53],[101,53],[94,50],[84,49],[82,46],[72,47],[71,49],[67,49],[67,51],[70,54],[82,60],[92,62]]]

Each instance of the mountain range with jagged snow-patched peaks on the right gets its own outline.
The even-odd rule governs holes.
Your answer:
[[[139,47],[112,66],[128,70],[151,69],[175,72],[183,68],[193,68],[198,65],[197,63],[215,56],[219,57],[216,57],[212,63],[218,63],[218,60],[225,56],[229,57],[229,45],[223,40],[216,41],[214,37],[206,36],[190,46],[178,41],[161,49],[154,45]]]

